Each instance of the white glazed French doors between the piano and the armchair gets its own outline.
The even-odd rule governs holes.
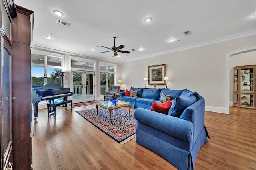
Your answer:
[[[86,71],[73,72],[73,103],[95,100],[95,73]]]

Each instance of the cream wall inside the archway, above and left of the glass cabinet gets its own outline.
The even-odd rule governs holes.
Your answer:
[[[230,69],[230,88],[229,88],[229,100],[230,105],[234,102],[234,67],[236,66],[246,66],[246,65],[256,65],[256,51],[250,51],[247,53],[237,54],[230,57],[229,69]]]

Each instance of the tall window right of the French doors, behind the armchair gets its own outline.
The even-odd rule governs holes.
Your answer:
[[[100,63],[100,95],[104,95],[110,86],[114,86],[115,70],[114,65]]]

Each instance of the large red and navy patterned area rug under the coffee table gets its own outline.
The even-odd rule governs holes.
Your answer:
[[[122,107],[112,110],[111,123],[109,122],[109,111],[102,107],[98,107],[98,115],[96,108],[77,111],[82,117],[98,127],[101,131],[112,137],[120,145],[130,141],[135,137],[136,120],[133,112]]]

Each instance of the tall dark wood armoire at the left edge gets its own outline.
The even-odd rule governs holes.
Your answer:
[[[31,169],[31,51],[33,12],[1,0],[1,170]]]

